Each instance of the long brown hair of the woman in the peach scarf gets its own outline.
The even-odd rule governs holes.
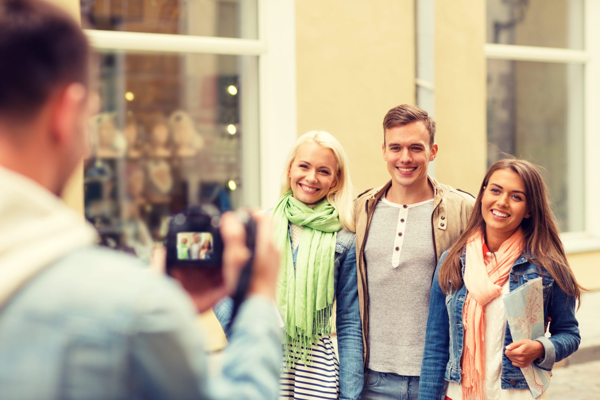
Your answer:
[[[507,158],[491,164],[479,188],[479,194],[473,206],[473,215],[463,234],[452,245],[439,271],[440,288],[446,294],[463,286],[460,256],[466,248],[467,241],[477,231],[485,232],[485,221],[481,213],[481,198],[491,175],[497,170],[511,170],[523,179],[527,196],[527,210],[530,217],[523,218],[521,228],[525,237],[523,255],[530,263],[543,266],[560,288],[569,296],[575,296],[581,302],[581,290],[569,262],[565,249],[560,242],[559,230],[554,222],[554,216],[548,200],[548,188],[538,169],[529,161]],[[535,259],[534,259],[535,257]]]

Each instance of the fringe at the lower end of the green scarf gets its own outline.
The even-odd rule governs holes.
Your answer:
[[[286,332],[283,341],[283,351],[286,358],[283,364],[283,371],[289,371],[296,365],[296,362],[302,362],[305,365],[313,363],[313,344],[319,341],[319,335],[328,336],[331,333],[332,307],[333,303],[314,312],[312,335],[301,332],[298,327],[296,327],[295,336],[293,337]]]

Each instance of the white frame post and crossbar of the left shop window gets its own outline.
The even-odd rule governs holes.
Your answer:
[[[95,29],[85,34],[96,50],[257,56],[260,182],[244,184],[259,185],[260,206],[266,208],[279,197],[281,169],[298,136],[295,1],[257,0],[257,7],[256,40]],[[255,165],[248,164],[242,175]]]

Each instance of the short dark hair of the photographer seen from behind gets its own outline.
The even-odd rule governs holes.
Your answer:
[[[61,85],[88,86],[89,44],[44,0],[0,0],[0,117],[31,118]]]

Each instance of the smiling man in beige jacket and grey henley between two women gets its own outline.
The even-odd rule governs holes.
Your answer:
[[[356,199],[362,400],[418,398],[431,278],[473,210],[473,196],[427,175],[435,134],[425,110],[389,110],[382,151],[392,179]]]

